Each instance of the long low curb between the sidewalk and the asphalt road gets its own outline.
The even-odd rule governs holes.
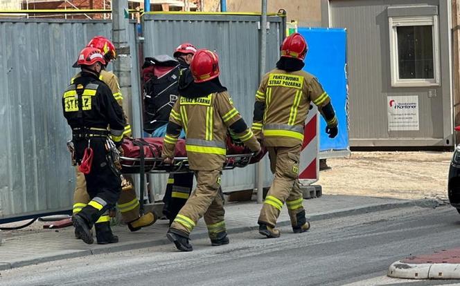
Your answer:
[[[353,216],[362,213],[371,213],[375,211],[385,211],[389,209],[397,209],[397,208],[404,208],[404,207],[437,207],[439,206],[439,202],[436,200],[413,200],[407,201],[402,200],[401,202],[390,202],[384,204],[368,204],[362,207],[357,208],[347,208],[347,209],[338,209],[337,211],[328,211],[324,213],[312,213],[308,216],[308,220],[315,221],[315,220],[325,220],[328,218],[337,218],[341,216]],[[308,211],[308,209],[307,209]],[[278,227],[285,227],[290,225],[290,220],[281,220],[276,224]],[[313,226],[314,227],[314,226]],[[227,229],[229,234],[236,234],[242,233],[246,231],[254,231],[258,229],[258,225],[256,224],[256,220],[254,220],[254,225],[248,227],[233,227]],[[191,239],[201,239],[207,238],[208,233],[207,231],[202,231],[199,233],[192,233]],[[95,248],[95,249],[76,249],[76,251],[69,251],[66,254],[57,254],[57,255],[50,255],[44,256],[41,258],[32,258],[27,260],[20,260],[15,261],[12,263],[7,262],[0,262],[0,270],[12,269],[17,267],[23,267],[27,265],[34,265],[39,263],[46,263],[55,260],[62,260],[68,258],[76,258],[81,256],[89,256],[95,254],[108,254],[113,252],[119,251],[128,251],[133,249],[141,249],[141,248],[148,248],[148,247],[156,247],[159,245],[166,245],[169,244],[169,240],[166,238],[164,239],[157,239],[157,240],[137,240],[133,242],[121,242],[114,245],[109,245],[106,247]]]

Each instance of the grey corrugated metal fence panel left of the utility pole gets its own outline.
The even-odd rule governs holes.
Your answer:
[[[78,52],[96,35],[110,38],[112,24],[0,20],[0,219],[71,209],[75,172],[61,97]]]

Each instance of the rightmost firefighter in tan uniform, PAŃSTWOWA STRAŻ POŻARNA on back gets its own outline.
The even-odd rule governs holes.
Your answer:
[[[303,129],[310,102],[318,106],[327,122],[326,133],[337,136],[337,117],[328,94],[318,80],[302,70],[308,46],[299,33],[287,37],[281,45],[276,69],[267,73],[256,93],[252,130],[267,146],[274,180],[258,218],[259,233],[277,238],[275,229],[286,203],[294,233],[310,228],[303,209],[299,187],[299,159]]]

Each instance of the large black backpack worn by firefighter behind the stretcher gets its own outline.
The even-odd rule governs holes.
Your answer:
[[[143,130],[153,133],[155,129],[168,123],[172,106],[179,97],[179,61],[168,55],[146,57],[142,75]]]

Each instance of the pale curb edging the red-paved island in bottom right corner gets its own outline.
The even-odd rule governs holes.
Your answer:
[[[460,264],[403,263],[396,261],[388,269],[388,276],[405,279],[460,279]]]

